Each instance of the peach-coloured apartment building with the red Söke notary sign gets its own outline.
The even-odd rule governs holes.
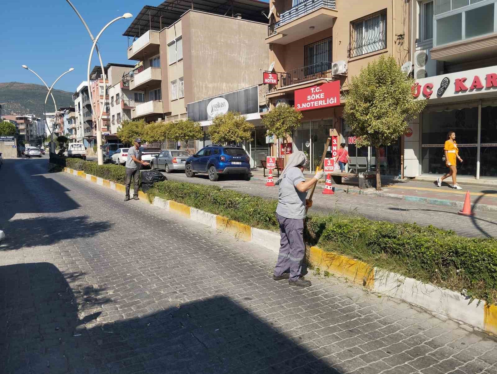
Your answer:
[[[414,0],[415,1],[415,0]],[[356,148],[355,135],[344,122],[344,93],[350,77],[381,55],[393,55],[402,65],[410,60],[410,6],[405,0],[270,0],[265,42],[270,68],[260,73],[269,84],[268,105],[295,105],[302,125],[286,149],[268,143],[273,155],[296,150],[307,154],[309,170],[319,165],[330,129],[346,143],[350,168],[375,170],[375,149]],[[269,139],[268,139],[269,140]],[[401,174],[402,139],[385,147],[388,165],[382,173]],[[274,144],[274,145],[273,145]],[[328,149],[331,154],[331,148]],[[331,155],[330,155],[331,157]]]

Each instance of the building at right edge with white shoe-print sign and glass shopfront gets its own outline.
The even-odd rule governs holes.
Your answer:
[[[405,175],[434,180],[455,131],[458,179],[497,177],[497,1],[415,1],[415,95],[428,99],[405,137]]]

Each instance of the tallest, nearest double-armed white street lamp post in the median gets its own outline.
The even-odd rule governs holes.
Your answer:
[[[81,14],[78,11],[78,9],[76,9],[76,7],[73,5],[73,3],[70,0],[66,0],[66,1],[68,2],[69,5],[71,5],[71,7],[73,8],[73,10],[76,12],[76,14],[78,15],[78,17],[81,19],[81,22],[83,22],[83,25],[86,28],[86,31],[88,31],[88,34],[89,34],[89,36],[91,38],[91,41],[93,42],[93,45],[91,46],[90,55],[89,55],[89,58],[88,58],[88,72],[87,72],[88,92],[89,92],[90,106],[93,109],[93,113],[95,114],[95,118],[97,120],[96,121],[97,161],[98,161],[98,165],[103,165],[103,155],[102,155],[102,152],[101,152],[101,148],[102,148],[102,127],[101,127],[101,120],[102,120],[103,111],[104,111],[104,108],[105,108],[105,96],[106,96],[105,95],[105,93],[106,93],[105,88],[106,88],[106,86],[105,86],[105,70],[103,69],[102,57],[100,56],[100,51],[98,50],[98,47],[96,46],[96,43],[97,43],[98,38],[100,37],[100,35],[102,35],[103,31],[107,27],[109,27],[112,23],[114,23],[115,21],[117,21],[117,20],[119,20],[121,18],[130,18],[133,15],[131,13],[124,13],[122,16],[114,18],[112,21],[110,21],[109,23],[107,23],[100,30],[100,32],[98,33],[98,35],[96,36],[96,38],[93,38],[93,34],[91,33],[91,31],[90,31],[88,25],[86,24],[86,22],[84,22],[84,19],[81,16]],[[91,95],[91,90],[90,90],[90,87],[89,87],[89,85],[90,85],[90,63],[91,63],[91,58],[93,56],[93,51],[95,49],[97,51],[98,60],[100,62],[100,68],[102,69],[103,86],[104,86],[103,103],[102,103],[102,108],[101,108],[100,114],[98,114],[97,111],[96,111],[96,104],[93,103],[93,98],[91,97],[92,95]],[[98,80],[97,80],[97,82],[98,82]]]

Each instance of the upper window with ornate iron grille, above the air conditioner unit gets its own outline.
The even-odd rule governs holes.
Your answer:
[[[350,25],[349,57],[387,48],[387,11],[374,13]]]

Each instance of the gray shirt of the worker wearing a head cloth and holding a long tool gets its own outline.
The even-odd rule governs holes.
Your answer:
[[[305,182],[304,175],[299,168],[288,169],[279,185],[278,206],[276,213],[285,218],[304,219],[306,217],[307,191],[299,192],[295,186]]]

